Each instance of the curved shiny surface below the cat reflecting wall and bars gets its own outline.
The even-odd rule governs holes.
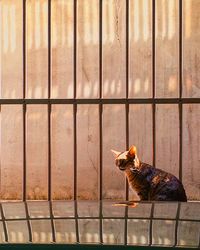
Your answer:
[[[112,204],[112,201],[2,203],[3,242],[199,247],[199,203],[165,203],[164,214],[162,202],[143,202],[135,209]],[[13,230],[12,225],[17,226],[18,222],[22,223],[21,234]],[[40,223],[42,228],[35,226]],[[64,227],[65,223],[69,226]],[[186,233],[185,228],[190,228],[193,234]]]

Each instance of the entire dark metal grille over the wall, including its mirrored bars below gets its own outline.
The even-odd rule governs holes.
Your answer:
[[[125,124],[126,124],[126,147],[129,147],[129,105],[130,104],[151,104],[152,105],[152,134],[153,134],[153,164],[155,165],[156,159],[156,105],[160,104],[177,104],[179,106],[179,178],[182,179],[182,112],[183,112],[183,105],[185,104],[200,104],[199,98],[183,98],[182,97],[182,66],[183,66],[183,59],[182,59],[182,0],[179,0],[179,97],[178,98],[156,98],[155,93],[155,74],[156,74],[156,63],[155,63],[155,55],[156,55],[156,39],[155,39],[155,0],[152,0],[152,97],[151,98],[130,98],[129,97],[129,0],[126,0],[126,95],[125,98],[110,98],[106,99],[103,98],[102,94],[102,85],[103,85],[103,77],[102,77],[102,18],[103,18],[103,9],[102,9],[102,2],[103,0],[99,0],[99,97],[96,99],[87,99],[87,98],[77,98],[77,0],[74,0],[74,51],[73,51],[73,80],[74,80],[74,96],[71,99],[52,99],[51,98],[51,0],[48,0],[48,98],[47,99],[27,99],[26,98],[26,0],[23,0],[23,98],[22,99],[0,99],[1,105],[8,105],[8,104],[16,104],[21,105],[23,107],[23,201],[24,201],[24,208],[25,208],[25,217],[18,220],[25,220],[27,221],[27,230],[29,232],[29,242],[32,242],[32,227],[31,222],[33,220],[41,220],[41,218],[33,218],[30,216],[29,208],[27,204],[27,168],[26,168],[26,109],[27,105],[33,104],[43,104],[48,107],[48,207],[49,207],[49,216],[42,217],[42,220],[50,220],[51,223],[51,233],[52,233],[52,242],[56,242],[56,229],[55,229],[55,221],[57,219],[73,219],[75,222],[75,235],[76,235],[76,242],[80,243],[80,228],[79,223],[80,220],[91,219],[91,216],[80,216],[78,212],[78,205],[77,205],[77,107],[78,105],[84,104],[95,104],[99,106],[99,155],[100,155],[100,172],[99,172],[99,200],[98,203],[98,214],[92,217],[93,220],[98,220],[99,223],[99,243],[104,243],[103,238],[103,223],[105,219],[116,220],[121,219],[124,221],[124,238],[123,244],[128,244],[128,226],[130,219],[139,219],[143,220],[144,216],[142,217],[131,217],[129,216],[128,208],[125,208],[123,211],[123,215],[121,216],[108,216],[105,217],[103,213],[103,194],[102,194],[102,182],[103,182],[103,141],[102,141],[102,134],[103,134],[103,125],[102,125],[102,117],[104,106],[108,104],[121,104],[124,105],[125,109]],[[54,215],[54,210],[52,207],[52,169],[51,169],[51,108],[53,104],[66,104],[66,105],[73,105],[73,126],[74,126],[74,215],[72,217],[56,217]],[[128,200],[128,183],[126,182],[126,199]],[[150,215],[146,218],[149,222],[149,231],[148,231],[148,242],[147,245],[153,245],[153,221],[154,220],[165,220],[166,218],[155,218],[154,210],[155,204],[150,204]],[[200,223],[199,219],[187,219],[187,218],[180,218],[180,209],[181,204],[179,203],[177,206],[176,216],[175,218],[170,218],[171,221],[175,221],[175,238],[173,242],[173,246],[178,245],[178,228],[179,223],[181,221],[192,221]],[[9,242],[8,237],[8,229],[7,229],[7,222],[9,221],[16,221],[16,218],[6,218],[4,214],[4,209],[2,204],[0,206],[1,211],[1,221],[3,224],[4,230],[4,237],[5,242]],[[200,241],[198,243],[198,247],[200,247]]]

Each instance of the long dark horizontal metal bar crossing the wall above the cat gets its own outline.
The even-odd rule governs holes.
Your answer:
[[[0,99],[0,105],[14,104],[199,104],[200,98],[111,98],[111,99]]]

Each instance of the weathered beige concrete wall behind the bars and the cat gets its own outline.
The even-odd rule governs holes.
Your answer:
[[[48,95],[47,0],[26,1],[26,97]],[[179,96],[178,0],[156,0],[156,97]],[[103,0],[103,97],[125,97],[125,0]],[[129,97],[152,95],[152,8],[149,0],[129,1]],[[200,2],[183,1],[183,97],[200,97]],[[22,98],[22,0],[0,1],[0,94]],[[73,1],[52,0],[51,97],[73,97]],[[99,95],[99,1],[77,1],[77,98]],[[130,144],[152,162],[150,105],[130,105]],[[178,175],[177,105],[156,106],[156,165]],[[23,124],[20,105],[1,106],[0,197],[22,197]],[[183,183],[190,199],[200,199],[200,106],[183,105]],[[47,107],[27,106],[27,193],[47,197]],[[73,197],[73,107],[53,105],[52,195]],[[125,108],[103,107],[103,197],[124,198],[125,179],[110,149],[125,150]],[[79,198],[98,198],[99,123],[97,105],[78,105]],[[133,196],[131,194],[131,196]],[[133,196],[135,197],[135,196]]]

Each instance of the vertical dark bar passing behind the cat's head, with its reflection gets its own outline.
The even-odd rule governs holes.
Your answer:
[[[126,100],[129,97],[129,0],[126,0]],[[126,149],[129,148],[129,104],[125,104],[126,112]],[[125,199],[129,199],[129,185],[128,180],[125,178]],[[124,219],[124,244],[127,245],[128,233],[128,207],[125,208]]]

